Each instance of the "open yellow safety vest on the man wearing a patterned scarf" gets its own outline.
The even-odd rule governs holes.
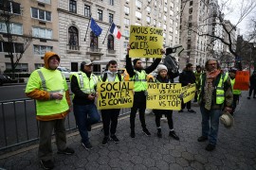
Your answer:
[[[206,79],[206,77],[204,77],[204,79],[203,79],[202,76],[203,75],[201,75],[201,77],[200,77],[200,79],[201,79],[201,81],[200,81],[200,92],[202,92],[201,88],[203,86],[203,81],[205,81],[205,79]],[[228,73],[221,74],[218,85],[215,87],[215,89],[216,89],[216,104],[218,104],[218,105],[224,103],[224,100],[225,100],[224,82],[226,82],[228,77],[229,77]],[[205,84],[205,82],[204,82],[204,84]],[[201,93],[198,95],[198,100],[200,100],[200,97],[202,97]]]

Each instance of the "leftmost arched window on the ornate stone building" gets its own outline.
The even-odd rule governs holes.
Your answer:
[[[79,35],[78,29],[75,26],[68,28],[68,44],[69,49],[79,50]]]

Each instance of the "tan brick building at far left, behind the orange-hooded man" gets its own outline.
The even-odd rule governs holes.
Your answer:
[[[27,48],[15,68],[17,72],[30,73],[43,66],[46,51],[52,50],[59,53],[57,5],[56,1],[50,0],[4,0],[0,2],[0,12],[6,12],[8,6],[14,62],[23,53],[24,48]],[[8,53],[8,30],[5,19],[0,18],[0,72],[3,73],[11,69],[11,64]]]

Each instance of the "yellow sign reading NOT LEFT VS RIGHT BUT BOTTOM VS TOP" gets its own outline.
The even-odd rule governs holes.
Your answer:
[[[180,110],[180,83],[148,83],[147,109]]]

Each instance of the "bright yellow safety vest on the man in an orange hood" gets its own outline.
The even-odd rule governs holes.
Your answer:
[[[36,100],[37,115],[52,115],[64,112],[69,109],[65,91],[68,89],[65,77],[59,70],[48,70],[41,68],[34,71],[27,81],[26,93],[35,89],[46,91],[48,93],[57,93],[63,91],[64,97],[59,102],[56,100]]]

